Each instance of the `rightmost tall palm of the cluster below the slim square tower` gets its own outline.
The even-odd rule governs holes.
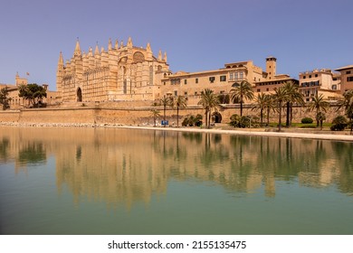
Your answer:
[[[286,126],[291,126],[291,118],[292,118],[292,106],[293,103],[298,103],[300,105],[304,105],[304,99],[299,91],[298,84],[294,83],[293,81],[287,81],[284,86],[284,89],[287,91],[287,116],[286,116]]]

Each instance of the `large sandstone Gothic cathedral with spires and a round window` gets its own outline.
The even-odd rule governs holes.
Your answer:
[[[72,59],[64,63],[60,52],[56,89],[62,102],[103,102],[155,100],[160,98],[161,80],[169,74],[167,53],[155,57],[150,44],[135,47],[131,38],[126,45],[111,40],[108,49],[81,52],[77,40]]]

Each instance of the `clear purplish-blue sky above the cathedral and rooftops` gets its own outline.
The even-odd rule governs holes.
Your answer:
[[[1,0],[0,83],[16,72],[55,90],[59,53],[71,59],[108,41],[150,42],[170,70],[215,70],[224,63],[277,58],[277,73],[353,64],[352,0]]]

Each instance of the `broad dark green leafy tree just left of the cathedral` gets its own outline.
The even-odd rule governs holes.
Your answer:
[[[43,98],[46,98],[46,90],[36,83],[23,84],[18,89],[18,96],[28,100],[29,105],[32,104],[35,107]]]

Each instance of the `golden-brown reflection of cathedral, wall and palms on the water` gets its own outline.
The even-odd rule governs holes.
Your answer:
[[[336,187],[353,193],[353,144],[258,136],[229,136],[104,128],[1,127],[0,161],[16,170],[56,161],[58,192],[74,201],[105,201],[128,210],[167,192],[170,181],[222,185],[232,194],[263,191],[276,183]],[[20,168],[20,169],[19,169]]]

